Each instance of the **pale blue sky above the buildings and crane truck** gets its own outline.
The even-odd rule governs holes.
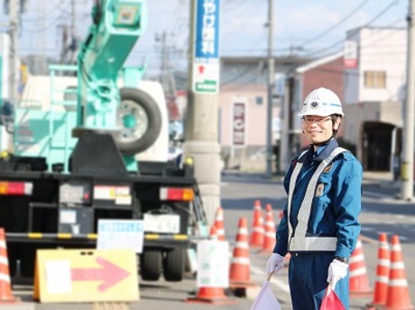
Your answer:
[[[5,0],[2,0],[4,2]],[[19,54],[58,58],[62,27],[70,26],[75,2],[75,34],[82,41],[91,23],[93,0],[26,0],[21,16]],[[343,49],[346,31],[361,26],[406,27],[410,0],[273,0],[274,53],[309,57]],[[128,59],[147,63],[150,75],[161,68],[161,35],[165,33],[171,69],[186,70],[190,0],[147,0],[148,24]],[[220,0],[220,55],[267,55],[268,0]],[[2,5],[3,6],[3,5]],[[1,12],[0,30],[9,17]]]

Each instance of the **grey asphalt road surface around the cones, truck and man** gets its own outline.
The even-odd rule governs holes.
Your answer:
[[[224,174],[222,178],[222,206],[224,208],[224,222],[226,239],[230,249],[235,246],[237,223],[241,217],[246,217],[249,225],[252,223],[254,201],[259,200],[263,205],[272,205],[275,222],[279,221],[279,213],[285,202],[285,193],[278,179],[267,179],[261,175]],[[410,296],[415,296],[415,204],[401,202],[394,198],[399,193],[399,187],[393,182],[379,180],[365,181],[363,192],[363,211],[360,216],[362,222],[362,241],[364,261],[370,287],[374,287],[375,270],[377,265],[377,240],[379,232],[387,232],[388,236],[397,234],[401,240],[402,255],[409,276]],[[232,253],[230,253],[232,255]],[[233,296],[234,291],[227,290],[231,305],[215,305],[215,309],[249,309],[258,289],[265,279],[265,264],[269,254],[262,254],[258,250],[250,250],[251,280],[257,286],[245,293],[247,296]],[[272,291],[277,296],[282,309],[291,309],[290,290],[287,285],[287,269],[283,269],[271,280]],[[185,302],[197,291],[194,275],[187,275],[179,283],[141,282],[140,301],[131,304],[104,305],[104,304],[40,304],[32,301],[32,287],[14,287],[14,295],[22,297],[23,302],[15,309],[24,310],[51,310],[51,309],[208,309],[212,305],[191,304]],[[359,296],[350,298],[350,309],[361,309],[373,296]],[[6,306],[6,307],[4,307]],[[10,305],[1,305],[0,309],[14,309]]]

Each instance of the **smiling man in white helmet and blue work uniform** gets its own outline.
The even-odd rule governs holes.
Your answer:
[[[348,309],[348,259],[360,233],[362,166],[338,147],[344,113],[334,92],[313,90],[299,116],[310,147],[292,160],[284,178],[288,200],[267,272],[279,271],[290,252],[294,310],[318,310],[330,289]]]

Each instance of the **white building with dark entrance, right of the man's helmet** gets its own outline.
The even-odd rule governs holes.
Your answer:
[[[393,171],[401,155],[407,31],[358,28],[355,68],[344,71],[345,139],[355,142],[366,171]]]

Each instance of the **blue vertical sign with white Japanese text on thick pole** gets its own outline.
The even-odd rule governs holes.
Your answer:
[[[195,58],[219,58],[219,0],[196,1]]]

